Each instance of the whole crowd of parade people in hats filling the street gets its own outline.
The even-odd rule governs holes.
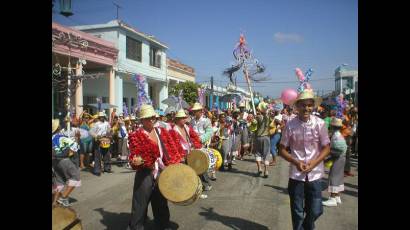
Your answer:
[[[343,178],[354,176],[351,158],[357,157],[358,111],[352,104],[342,116],[321,103],[312,92],[298,95],[280,109],[261,101],[256,111],[243,102],[232,109],[204,108],[155,111],[143,105],[131,116],[83,112],[65,123],[52,121],[53,205],[70,206],[69,195],[81,186],[80,171],[95,176],[115,173],[112,164],[136,170],[129,229],[143,229],[151,202],[159,229],[169,228],[167,199],[158,189],[159,174],[171,164],[184,163],[193,149],[220,153],[220,167],[198,175],[206,199],[219,172],[231,170],[245,156],[255,157],[255,174],[269,177],[278,155],[290,162],[289,196],[294,229],[314,229],[322,206],[340,204]],[[320,180],[328,168],[329,199],[322,202]],[[320,199],[319,199],[320,198]]]

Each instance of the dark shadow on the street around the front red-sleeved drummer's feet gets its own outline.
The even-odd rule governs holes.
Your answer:
[[[107,230],[124,230],[127,229],[131,213],[115,213],[115,212],[107,212],[103,208],[94,209],[98,211],[101,216],[102,220],[100,221],[107,229]],[[175,222],[170,221],[170,228],[171,229],[178,229],[179,225]],[[144,229],[146,230],[157,230],[157,226],[153,219],[150,219],[148,216],[145,220]]]

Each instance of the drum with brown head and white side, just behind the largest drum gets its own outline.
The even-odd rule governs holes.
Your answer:
[[[211,149],[195,149],[187,155],[187,163],[197,175],[202,175],[215,167],[216,157]]]

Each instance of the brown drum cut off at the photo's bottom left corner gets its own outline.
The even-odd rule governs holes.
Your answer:
[[[52,229],[53,230],[82,230],[81,220],[71,208],[56,206],[52,209]]]

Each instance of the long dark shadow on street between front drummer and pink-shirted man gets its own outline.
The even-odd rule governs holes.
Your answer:
[[[223,225],[227,226],[228,228],[231,229],[252,229],[252,230],[268,230],[269,228],[249,221],[249,220],[244,220],[242,218],[238,217],[230,217],[230,216],[224,216],[220,215],[216,212],[214,212],[213,208],[203,208],[201,207],[204,212],[200,212],[199,215],[204,216],[206,220],[210,221],[219,221]]]

